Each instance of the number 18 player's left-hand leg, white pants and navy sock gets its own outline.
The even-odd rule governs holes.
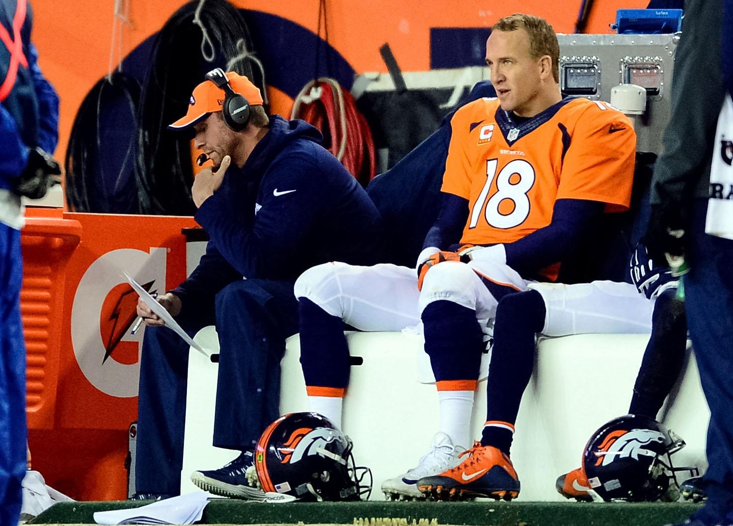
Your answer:
[[[324,263],[295,282],[301,364],[312,411],[341,427],[349,382],[348,324],[363,331],[399,331],[419,324],[417,275],[395,265]]]

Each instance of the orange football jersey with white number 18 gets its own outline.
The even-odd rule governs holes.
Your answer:
[[[608,103],[564,99],[514,123],[496,98],[482,98],[451,126],[441,190],[468,200],[462,244],[517,241],[550,224],[558,199],[629,206],[636,134]]]

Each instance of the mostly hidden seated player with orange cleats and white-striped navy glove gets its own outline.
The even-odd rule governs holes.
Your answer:
[[[684,363],[685,306],[677,299],[677,278],[667,266],[655,266],[642,244],[631,257],[630,277],[634,285],[608,281],[534,283],[529,291],[501,299],[494,324],[487,417],[481,440],[464,453],[461,464],[422,478],[418,482],[422,492],[430,498],[454,500],[477,496],[510,500],[517,496],[520,485],[509,450],[520,400],[534,366],[535,333],[630,334],[649,332],[651,325],[629,413],[656,418]],[[477,476],[471,477],[474,473]],[[567,498],[592,500],[580,468],[561,475],[556,489]]]

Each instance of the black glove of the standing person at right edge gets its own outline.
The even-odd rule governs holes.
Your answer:
[[[647,233],[644,235],[649,257],[664,264],[667,261],[665,254],[677,257],[685,255],[684,225],[682,206],[652,205]]]

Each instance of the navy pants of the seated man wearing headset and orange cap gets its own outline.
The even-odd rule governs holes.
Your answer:
[[[213,445],[251,449],[279,417],[280,359],[285,338],[298,332],[292,282],[236,281],[216,295],[216,314],[191,307],[184,305],[177,318],[185,331],[194,335],[216,322],[219,337]],[[139,493],[180,491],[188,349],[171,329],[145,329],[135,466]]]

